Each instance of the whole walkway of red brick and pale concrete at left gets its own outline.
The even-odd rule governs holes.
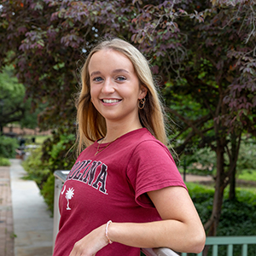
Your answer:
[[[50,256],[53,218],[37,184],[21,178],[26,172],[20,160],[11,160],[11,164],[0,167],[0,189],[1,182],[6,184],[5,194],[0,190],[0,256]]]

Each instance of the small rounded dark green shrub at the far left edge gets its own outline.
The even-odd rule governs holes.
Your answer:
[[[0,136],[0,156],[4,158],[15,158],[15,149],[19,145],[15,138]]]

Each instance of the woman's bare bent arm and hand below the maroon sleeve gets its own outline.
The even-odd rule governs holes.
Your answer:
[[[177,252],[200,253],[206,235],[188,191],[183,187],[167,187],[150,191],[148,196],[163,220],[112,223],[108,227],[109,239],[131,247],[170,247]],[[84,236],[70,256],[91,256],[108,245],[105,228],[106,224]]]

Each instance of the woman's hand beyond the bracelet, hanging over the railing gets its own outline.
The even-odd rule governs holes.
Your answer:
[[[108,238],[105,236],[106,224],[92,230],[87,236],[77,241],[69,256],[95,256],[96,253],[108,245]]]

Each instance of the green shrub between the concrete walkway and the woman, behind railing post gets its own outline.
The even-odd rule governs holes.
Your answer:
[[[42,147],[32,150],[31,155],[22,165],[28,176],[34,180],[49,210],[54,208],[54,175],[56,170],[70,170],[75,161],[73,154],[73,134],[53,132],[53,136],[44,141]],[[72,149],[70,149],[72,148]],[[68,153],[68,154],[67,154]]]

